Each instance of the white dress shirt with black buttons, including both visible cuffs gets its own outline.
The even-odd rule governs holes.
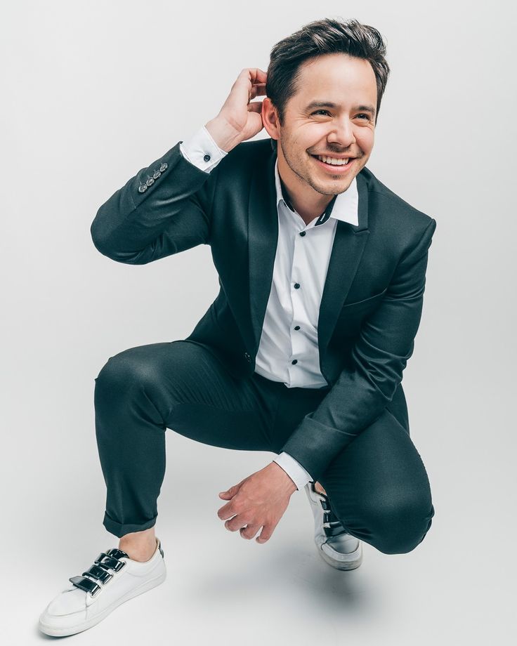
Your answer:
[[[218,147],[205,126],[181,142],[180,150],[191,164],[207,173],[228,154]],[[255,372],[271,381],[281,381],[287,388],[324,388],[328,384],[320,371],[320,303],[337,220],[358,225],[357,182],[353,178],[350,187],[308,225],[282,195],[278,161],[275,187],[278,242]],[[285,451],[273,461],[298,489],[312,480],[306,469]]]

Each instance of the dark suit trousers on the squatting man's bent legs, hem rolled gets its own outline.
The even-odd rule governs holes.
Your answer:
[[[167,428],[216,447],[279,454],[329,391],[287,388],[256,373],[237,380],[193,341],[119,352],[95,381],[103,525],[119,537],[155,525]],[[387,409],[335,457],[320,483],[343,527],[386,554],[411,551],[431,527],[424,463]]]

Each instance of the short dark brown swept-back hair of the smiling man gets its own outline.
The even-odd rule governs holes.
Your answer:
[[[358,20],[314,20],[277,42],[270,53],[266,95],[277,108],[282,125],[287,101],[299,90],[301,65],[306,60],[324,54],[344,53],[363,58],[372,65],[377,81],[377,109],[388,82],[390,68],[384,55],[386,46],[374,27],[361,25]]]

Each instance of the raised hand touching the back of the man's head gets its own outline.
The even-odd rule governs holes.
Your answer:
[[[215,119],[205,127],[212,138],[226,152],[237,144],[259,133],[262,122],[262,101],[251,102],[266,95],[266,72],[258,67],[246,67],[237,77],[228,98]]]

